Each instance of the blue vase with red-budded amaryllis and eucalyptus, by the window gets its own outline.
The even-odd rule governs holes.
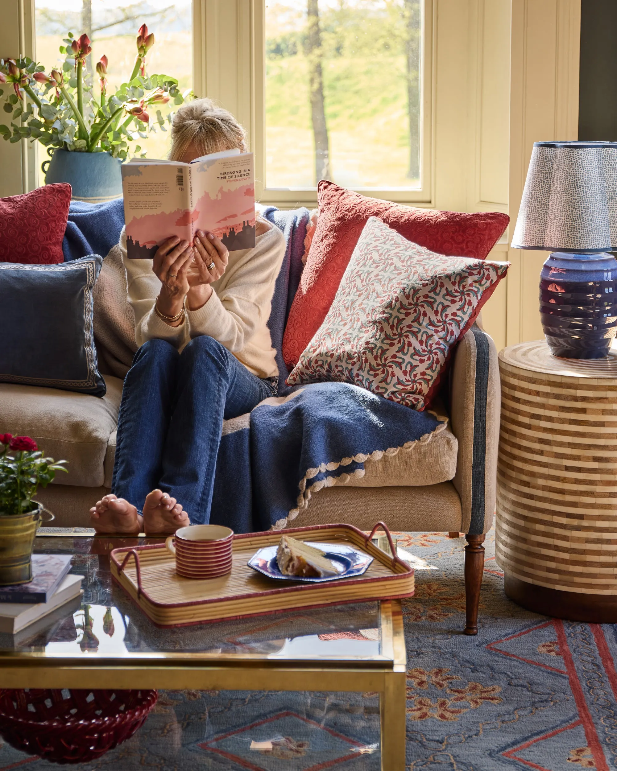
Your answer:
[[[72,197],[96,203],[122,195],[120,163],[131,155],[145,156],[139,140],[156,126],[165,130],[171,116],[159,105],[184,101],[177,79],[146,73],[147,52],[154,35],[145,24],[137,34],[137,56],[130,78],[107,93],[109,61],[96,64],[97,86],[87,86],[86,56],[92,51],[88,35],[64,39],[62,72],[20,59],[0,59],[0,97],[10,113],[10,126],[0,125],[8,142],[39,141],[51,160],[42,164],[46,183],[69,182]],[[2,89],[2,85],[11,86]],[[96,92],[96,93],[95,93]],[[46,167],[48,167],[46,169]]]

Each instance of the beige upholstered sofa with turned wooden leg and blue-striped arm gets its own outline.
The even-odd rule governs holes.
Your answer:
[[[69,461],[38,500],[56,527],[89,527],[89,508],[110,492],[123,377],[137,345],[126,298],[120,250],[103,261],[94,291],[94,332],[106,396],[0,383],[0,428],[32,436],[46,454]],[[110,311],[110,307],[121,308]],[[114,315],[115,314],[115,315]],[[485,534],[495,506],[501,391],[494,342],[474,325],[453,353],[435,405],[448,416],[445,430],[428,443],[377,460],[348,483],[314,493],[294,525],[346,522],[370,530],[383,520],[392,530],[465,534],[465,633],[477,633]]]

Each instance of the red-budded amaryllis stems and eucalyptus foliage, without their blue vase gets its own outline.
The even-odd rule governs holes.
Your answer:
[[[47,147],[59,147],[82,153],[108,152],[114,158],[126,160],[141,152],[139,138],[146,138],[146,128],[165,129],[166,119],[156,109],[173,99],[175,105],[184,101],[177,79],[168,75],[146,74],[147,52],[154,45],[154,35],[145,24],[137,33],[137,56],[128,82],[113,94],[107,93],[109,60],[101,56],[96,64],[99,76],[99,98],[94,87],[86,85],[86,56],[92,51],[88,35],[75,38],[72,32],[63,41],[60,52],[66,54],[62,72],[45,67],[27,56],[20,59],[0,59],[0,86],[12,86],[4,96],[5,113],[11,113],[11,125],[0,125],[0,136],[9,142],[22,139],[38,140]],[[150,119],[150,106],[156,118]],[[170,123],[171,116],[167,116]],[[142,153],[145,157],[145,153]]]

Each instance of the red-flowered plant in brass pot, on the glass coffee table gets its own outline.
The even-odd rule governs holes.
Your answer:
[[[29,436],[0,434],[0,586],[32,581],[34,537],[45,511],[32,497],[56,471],[66,471],[63,463],[43,457]]]

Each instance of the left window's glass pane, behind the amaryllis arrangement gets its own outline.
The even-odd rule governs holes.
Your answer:
[[[192,40],[191,0],[35,0],[36,59],[46,72],[53,67],[61,69],[65,56],[59,52],[67,32],[76,37],[86,32],[93,41],[89,69],[105,54],[107,66],[107,93],[126,82],[133,70],[137,47],[137,30],[143,23],[154,33],[153,48],[147,54],[146,66],[150,74],[165,74],[177,78],[180,92],[191,87]],[[98,77],[93,77],[93,93],[99,98]],[[157,105],[164,116],[171,105]],[[169,126],[167,126],[167,129]],[[147,157],[164,158],[170,148],[170,133],[151,131],[139,140]],[[39,156],[46,157],[40,146]],[[40,183],[43,183],[42,174]]]

